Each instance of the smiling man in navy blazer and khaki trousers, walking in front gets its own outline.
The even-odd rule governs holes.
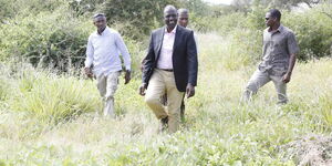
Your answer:
[[[164,9],[165,27],[153,31],[143,63],[139,94],[162,123],[162,131],[178,131],[184,93],[195,95],[197,84],[197,49],[194,32],[177,25],[177,10]],[[146,90],[146,92],[145,92]],[[167,93],[167,106],[160,96]]]

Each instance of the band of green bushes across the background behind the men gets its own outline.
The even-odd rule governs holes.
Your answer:
[[[149,31],[163,24],[162,11],[167,3],[191,9],[191,27],[195,30],[217,31],[232,41],[229,56],[238,59],[240,55],[240,59],[230,69],[238,68],[238,63],[247,65],[260,56],[263,15],[269,8],[256,2],[245,11],[232,12],[231,9],[207,6],[200,0],[0,0],[0,3],[3,4],[3,12],[0,13],[1,60],[24,59],[33,65],[51,65],[64,71],[82,64],[86,39],[94,30],[91,21],[93,13],[106,13],[110,27],[125,37],[136,54],[145,49],[144,41]],[[300,60],[330,54],[330,3],[323,3],[312,10],[282,11],[282,22],[295,32],[300,43]],[[250,52],[247,52],[248,46],[251,48]]]

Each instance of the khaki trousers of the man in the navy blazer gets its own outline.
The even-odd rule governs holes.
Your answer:
[[[162,103],[162,96],[167,93],[167,105]],[[184,92],[176,89],[174,72],[155,69],[146,90],[145,102],[158,120],[168,116],[170,133],[178,131],[180,123],[180,105]]]

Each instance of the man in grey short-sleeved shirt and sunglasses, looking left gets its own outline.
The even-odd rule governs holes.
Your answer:
[[[278,104],[288,102],[286,89],[290,82],[299,46],[292,30],[280,24],[281,13],[271,9],[266,13],[262,61],[251,76],[243,100],[249,101],[258,89],[272,81],[278,93]]]

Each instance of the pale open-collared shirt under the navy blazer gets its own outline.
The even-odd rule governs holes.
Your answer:
[[[163,45],[160,50],[160,55],[158,59],[157,68],[158,69],[173,69],[173,45],[175,41],[177,25],[172,30],[172,32],[167,32],[167,28],[165,28],[165,34],[163,39]]]

